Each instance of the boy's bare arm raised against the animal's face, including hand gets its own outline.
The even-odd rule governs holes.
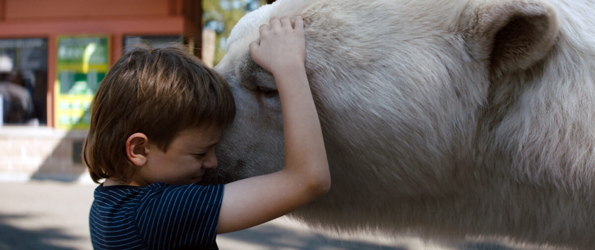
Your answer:
[[[287,17],[261,26],[252,59],[273,74],[283,110],[283,169],[225,186],[217,233],[233,232],[283,216],[330,189],[320,121],[305,71],[302,17],[295,29]]]

